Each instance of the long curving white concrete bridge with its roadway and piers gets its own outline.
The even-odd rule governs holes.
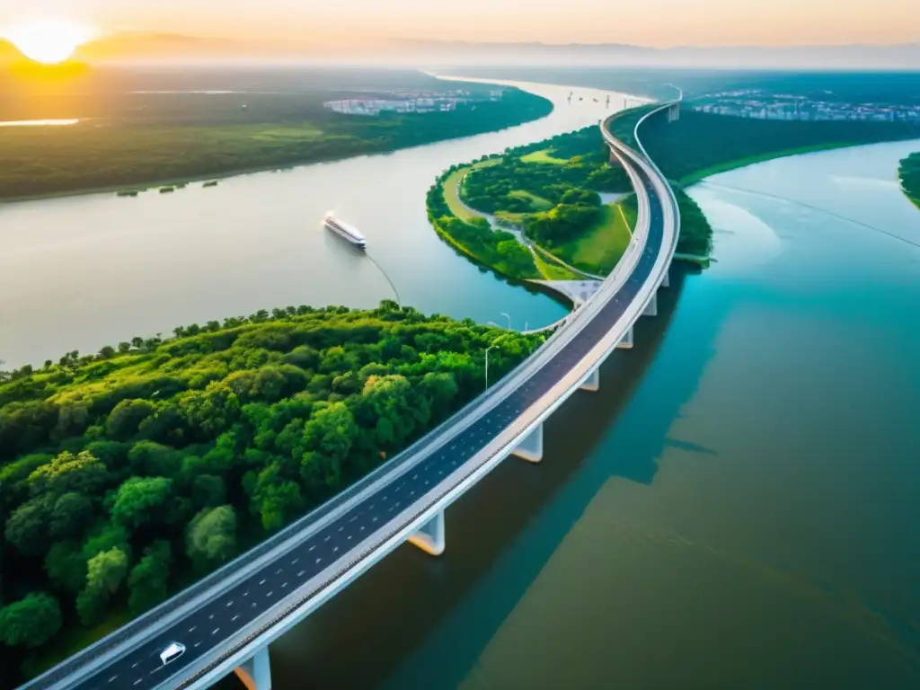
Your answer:
[[[645,118],[666,110],[671,121],[679,104]],[[270,690],[273,639],[403,543],[442,554],[444,511],[509,455],[540,462],[543,421],[577,390],[598,390],[606,357],[632,347],[633,324],[657,313],[677,244],[673,191],[641,143],[630,149],[608,123],[604,139],[638,196],[633,240],[531,357],[339,496],[24,688],[197,690],[236,673],[249,690]],[[185,651],[164,663],[174,642]]]

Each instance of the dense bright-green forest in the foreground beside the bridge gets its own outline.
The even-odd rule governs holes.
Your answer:
[[[0,373],[0,666],[36,673],[258,544],[476,397],[489,345],[495,382],[543,341],[385,301]]]

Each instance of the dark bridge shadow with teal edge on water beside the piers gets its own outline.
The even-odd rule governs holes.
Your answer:
[[[671,332],[686,280],[675,264],[659,316],[640,319],[636,347],[604,363],[600,391],[578,393],[546,421],[543,463],[511,456],[447,509],[442,557],[398,548],[277,640],[273,688],[456,687],[604,483],[650,484],[662,449],[686,447],[667,433],[696,391],[720,320],[681,319],[682,333]],[[656,371],[666,337],[687,338]],[[637,396],[653,404],[637,406]],[[220,687],[240,684],[230,677]]]

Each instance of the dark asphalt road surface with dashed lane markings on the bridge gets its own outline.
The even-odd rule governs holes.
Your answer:
[[[397,477],[395,483],[379,489],[300,546],[175,621],[140,647],[69,687],[81,690],[145,690],[164,683],[172,676],[176,676],[177,687],[184,687],[199,673],[183,677],[183,668],[191,667],[202,655],[214,650],[222,650],[222,658],[229,656],[234,650],[227,648],[227,640],[240,628],[249,625],[331,563],[349,555],[353,546],[366,536],[381,529],[397,532],[403,525],[394,523],[393,519],[401,510],[473,458],[511,426],[523,410],[565,378],[614,328],[636,298],[654,267],[664,235],[661,199],[642,168],[637,167],[637,171],[649,194],[650,231],[635,270],[615,297],[527,383],[514,390],[485,417],[445,441],[412,470]],[[185,645],[186,651],[175,661],[164,665],[159,655],[171,642]],[[47,684],[36,687],[48,687],[54,680],[52,676]]]

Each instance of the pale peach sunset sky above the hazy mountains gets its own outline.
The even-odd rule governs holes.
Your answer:
[[[36,17],[288,45],[323,37],[661,47],[920,40],[920,0],[0,0],[0,27]]]

